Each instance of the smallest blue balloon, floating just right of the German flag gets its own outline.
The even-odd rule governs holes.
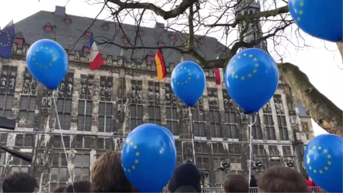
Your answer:
[[[205,90],[206,77],[202,68],[195,62],[184,61],[171,73],[171,89],[187,106],[193,106]]]

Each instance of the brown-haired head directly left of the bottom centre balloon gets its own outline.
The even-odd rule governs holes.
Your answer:
[[[132,185],[121,167],[120,153],[106,152],[91,170],[93,193],[131,193]]]

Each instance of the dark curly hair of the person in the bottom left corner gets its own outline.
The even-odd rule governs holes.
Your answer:
[[[35,188],[38,188],[36,179],[25,172],[14,172],[2,183],[3,193],[32,193]]]

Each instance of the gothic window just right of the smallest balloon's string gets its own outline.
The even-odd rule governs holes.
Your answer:
[[[201,97],[197,104],[194,105],[195,108],[191,108],[191,112],[192,112],[192,120],[193,120],[193,132],[194,132],[194,136],[197,137],[205,137],[205,114],[204,114],[204,103],[203,103],[203,98]],[[184,105],[184,113],[188,112],[185,111],[185,109],[189,108],[186,107]],[[185,115],[185,116],[189,116],[189,115]]]

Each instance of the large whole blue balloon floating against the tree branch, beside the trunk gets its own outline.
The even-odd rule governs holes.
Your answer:
[[[247,48],[232,57],[224,81],[227,92],[244,113],[256,113],[274,95],[279,71],[267,52]]]

